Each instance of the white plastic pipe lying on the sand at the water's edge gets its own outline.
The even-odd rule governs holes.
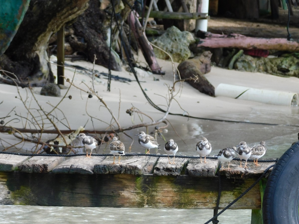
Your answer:
[[[298,105],[297,93],[254,89],[244,86],[229,85],[225,83],[220,83],[217,86],[215,90],[215,96],[227,96],[231,98],[245,99],[255,102],[262,102],[282,106]]]

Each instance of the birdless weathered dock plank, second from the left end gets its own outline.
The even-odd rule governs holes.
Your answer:
[[[35,156],[19,165],[19,170],[26,173],[47,173],[65,161],[65,157]]]

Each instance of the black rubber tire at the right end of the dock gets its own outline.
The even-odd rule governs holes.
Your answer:
[[[263,197],[264,224],[299,223],[299,142],[277,161]]]

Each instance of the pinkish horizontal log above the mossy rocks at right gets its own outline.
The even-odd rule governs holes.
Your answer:
[[[299,42],[295,40],[288,41],[286,38],[248,37],[237,33],[229,35],[207,33],[204,39],[200,40],[197,47],[298,51]]]

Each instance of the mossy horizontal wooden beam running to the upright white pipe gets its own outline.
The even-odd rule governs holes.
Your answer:
[[[208,19],[208,13],[177,13],[151,11],[149,17],[156,19]]]

